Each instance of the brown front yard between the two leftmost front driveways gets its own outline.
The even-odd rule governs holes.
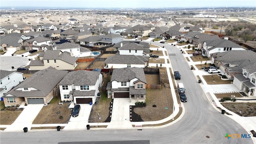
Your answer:
[[[70,103],[59,105],[59,102],[60,98],[53,98],[50,105],[42,108],[32,124],[67,124],[71,116],[71,109],[68,108]]]

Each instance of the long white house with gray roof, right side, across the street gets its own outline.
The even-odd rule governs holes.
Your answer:
[[[215,52],[225,52],[229,50],[246,50],[242,46],[230,40],[206,40],[203,46],[203,54],[210,58],[210,55]]]

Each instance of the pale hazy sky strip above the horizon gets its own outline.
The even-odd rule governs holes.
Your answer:
[[[0,7],[53,8],[154,8],[154,7],[254,7],[256,0],[0,0]]]

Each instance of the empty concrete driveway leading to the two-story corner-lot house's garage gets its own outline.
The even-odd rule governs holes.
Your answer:
[[[132,128],[132,123],[130,122],[129,98],[114,98],[111,121],[108,124],[107,128]]]

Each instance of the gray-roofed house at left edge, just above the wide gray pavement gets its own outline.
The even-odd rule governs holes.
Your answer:
[[[20,36],[4,36],[1,38],[0,45],[2,50],[6,51],[17,51],[22,49],[22,38]]]

